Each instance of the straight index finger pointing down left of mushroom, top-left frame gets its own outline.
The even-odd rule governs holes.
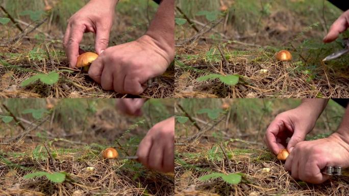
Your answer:
[[[65,52],[68,56],[69,67],[75,68],[79,57],[79,44],[82,41],[86,27],[84,25],[73,25]]]

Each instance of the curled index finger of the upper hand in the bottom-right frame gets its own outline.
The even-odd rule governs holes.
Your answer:
[[[280,152],[280,150],[285,148],[280,142],[277,142],[277,135],[284,129],[285,126],[283,121],[274,120],[271,122],[265,132],[265,139],[268,148],[276,155]]]

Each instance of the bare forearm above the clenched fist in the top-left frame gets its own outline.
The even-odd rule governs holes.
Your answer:
[[[163,0],[146,35],[174,59],[174,0]]]

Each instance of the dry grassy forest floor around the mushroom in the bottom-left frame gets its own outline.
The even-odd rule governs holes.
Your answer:
[[[60,115],[57,114],[55,118],[52,118],[51,114],[47,115],[43,119],[33,121],[39,126],[23,135],[22,139],[18,139],[17,136],[22,136],[26,131],[14,122],[8,125],[1,122],[0,195],[174,194],[173,174],[149,170],[132,160],[109,161],[101,157],[102,150],[107,146],[116,148],[120,156],[135,155],[138,142],[147,132],[148,126],[152,126],[153,121],[144,122],[144,126],[135,127],[127,132],[139,118],[122,115],[113,109],[113,105],[105,105],[104,108],[98,108],[95,114],[86,117],[84,123],[68,130],[64,129],[63,123],[60,122]],[[19,119],[24,119],[26,115],[21,117],[23,118]],[[21,120],[24,127],[30,127],[32,124],[30,118],[27,121],[29,124]],[[121,145],[118,145],[115,139],[118,139]],[[55,161],[47,155],[43,144],[47,146]],[[42,146],[42,151],[33,153],[39,145]],[[38,156],[39,154],[43,158]],[[87,167],[94,167],[94,170],[88,171]],[[63,183],[53,183],[45,177],[23,179],[24,175],[33,171],[65,171],[68,175]]]

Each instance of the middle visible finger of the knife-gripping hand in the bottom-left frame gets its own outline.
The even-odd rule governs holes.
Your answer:
[[[160,143],[161,141],[157,141],[157,142]],[[148,157],[149,168],[165,172],[162,164],[163,163],[162,159],[164,156],[163,151],[164,151],[163,146],[159,146],[155,143],[152,145],[152,149]]]

